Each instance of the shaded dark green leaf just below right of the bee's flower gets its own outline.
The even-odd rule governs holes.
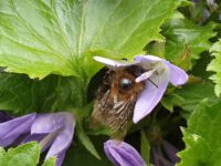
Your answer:
[[[170,112],[173,112],[175,107],[180,107],[182,117],[188,118],[201,101],[207,100],[209,105],[219,101],[213,93],[213,89],[214,86],[210,81],[198,79],[196,82],[175,89],[166,94],[161,100],[161,104]]]

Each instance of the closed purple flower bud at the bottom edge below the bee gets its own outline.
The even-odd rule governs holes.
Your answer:
[[[104,143],[104,151],[116,166],[146,166],[139,153],[125,142],[109,139]]]

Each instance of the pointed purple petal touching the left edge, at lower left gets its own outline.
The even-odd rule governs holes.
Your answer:
[[[35,114],[29,114],[1,123],[0,146],[6,147],[12,144],[22,134],[29,133],[34,118]]]

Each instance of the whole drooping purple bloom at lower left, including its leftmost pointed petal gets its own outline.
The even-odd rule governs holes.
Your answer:
[[[29,114],[0,124],[0,146],[9,146],[25,134],[22,143],[36,141],[42,152],[49,148],[45,158],[56,156],[56,166],[61,166],[72,143],[74,127],[71,113]]]

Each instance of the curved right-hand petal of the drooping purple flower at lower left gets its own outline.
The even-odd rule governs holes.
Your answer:
[[[63,128],[59,132],[59,135],[55,137],[52,143],[51,148],[46,154],[46,158],[51,156],[59,155],[60,153],[66,151],[72,143],[72,138],[74,135],[75,120],[70,113],[56,113],[60,116],[63,116]]]

